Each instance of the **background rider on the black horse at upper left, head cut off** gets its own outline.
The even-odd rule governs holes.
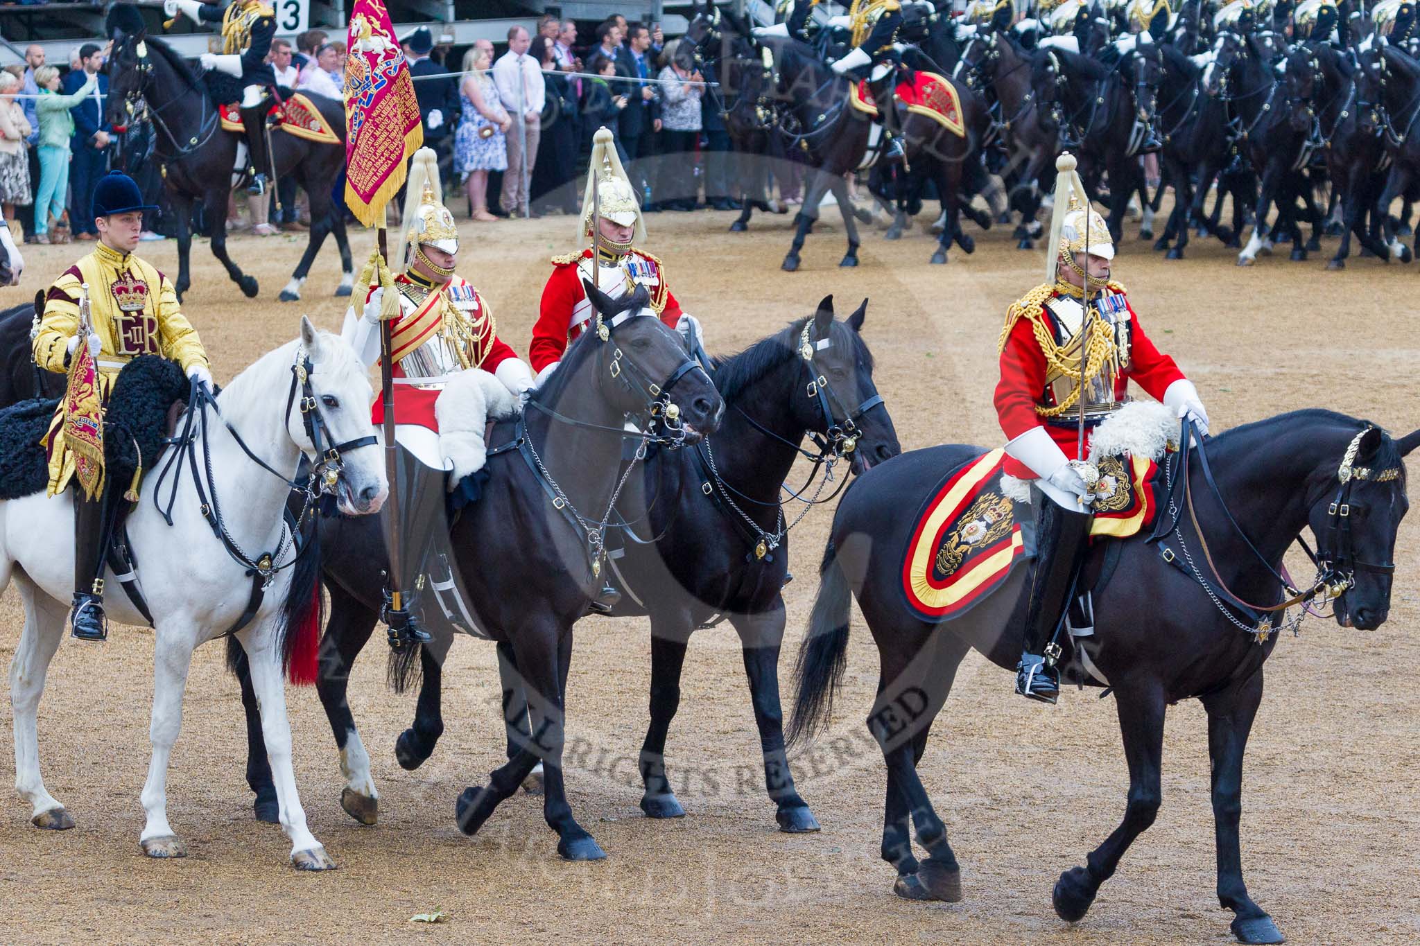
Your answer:
[[[267,153],[266,113],[270,111],[267,89],[275,89],[275,72],[267,62],[271,38],[275,35],[275,11],[261,0],[229,0],[199,3],[199,0],[163,0],[163,11],[172,17],[179,11],[193,23],[222,24],[222,54],[203,52],[197,57],[202,68],[226,72],[241,81],[241,126],[246,129],[247,152],[251,160],[251,180],[247,193],[266,193],[271,156]]]

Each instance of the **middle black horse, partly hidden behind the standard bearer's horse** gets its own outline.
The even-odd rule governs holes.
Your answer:
[[[778,492],[804,452],[799,444],[805,433],[822,444],[814,460],[815,468],[826,462],[826,469],[819,471],[826,477],[845,457],[855,471],[863,471],[899,452],[892,420],[873,387],[872,353],[859,335],[865,309],[866,301],[848,321],[838,322],[829,296],[814,316],[792,322],[740,355],[719,359],[714,382],[728,408],[720,433],[693,448],[650,454],[643,475],[633,481],[638,488],[629,488],[618,503],[626,535],[611,564],[625,593],[615,616],[649,614],[652,627],[650,725],[640,752],[640,807],[649,817],[684,814],[666,774],[666,735],[680,702],[687,641],[697,627],[720,616],[738,631],[743,644],[765,786],[780,828],[818,828],[794,787],[784,755],[778,657],[791,523]],[[824,482],[821,478],[821,492]],[[322,669],[321,698],[349,783],[341,803],[352,817],[372,824],[378,818],[373,786],[362,783],[366,773],[359,764],[345,762],[352,753],[358,759],[364,747],[344,682],[373,625],[373,616],[348,600],[348,589],[369,566],[329,566],[334,611],[325,634],[329,662]],[[420,660],[415,720],[396,745],[405,769],[423,764],[443,733],[442,665],[454,628],[444,624],[433,630],[437,641],[425,648]],[[498,644],[498,665],[513,757],[535,728],[527,726],[521,661],[504,642]]]

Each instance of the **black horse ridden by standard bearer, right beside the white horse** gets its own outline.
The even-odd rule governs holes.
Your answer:
[[[605,857],[567,801],[564,695],[572,625],[602,587],[598,525],[604,511],[609,515],[618,489],[623,420],[629,416],[650,425],[674,403],[672,416],[679,414],[682,441],[693,444],[719,427],[724,411],[710,379],[686,356],[680,336],[659,319],[635,315],[648,304],[643,286],[618,302],[586,288],[602,313],[598,328],[609,326],[606,338],[596,329],[584,333],[561,367],[531,394],[521,418],[493,427],[481,498],[463,509],[450,535],[452,566],[462,576],[473,624],[511,650],[532,723],[517,756],[491,774],[490,784],[470,787],[459,797],[459,828],[476,833],[542,762],[544,816],[558,833],[558,852],[568,859]],[[332,518],[321,528],[324,547],[334,552],[324,560],[331,618],[317,686],[349,781],[341,803],[364,821],[373,820],[376,796],[345,686],[351,662],[381,614],[381,573],[386,567],[381,536],[378,522]],[[452,625],[442,623],[439,608],[427,600],[432,591],[425,591],[423,611],[430,628],[442,631],[437,642],[419,648],[417,662],[392,667],[396,674],[405,668],[426,674],[422,708],[430,699],[437,706],[439,664],[452,640]],[[406,733],[400,743],[410,738]]]

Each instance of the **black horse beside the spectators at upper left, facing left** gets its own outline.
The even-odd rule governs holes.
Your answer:
[[[156,37],[118,33],[108,75],[108,121],[116,128],[151,123],[153,129],[153,149],[162,162],[163,182],[178,220],[178,281],[173,288],[179,298],[192,285],[189,258],[195,201],[200,201],[204,210],[212,254],[222,261],[241,292],[254,298],[256,277],[241,272],[227,255],[227,199],[237,183],[233,167],[237,148],[243,143],[241,135],[222,129],[217,102],[202,77]],[[277,129],[270,132],[277,177],[293,177],[311,203],[310,241],[291,281],[281,289],[283,302],[301,298],[301,284],[331,233],[341,252],[342,275],[335,295],[349,295],[355,279],[345,217],[331,201],[331,189],[345,167],[345,104],[320,95],[307,94],[307,98],[341,142],[320,143]]]

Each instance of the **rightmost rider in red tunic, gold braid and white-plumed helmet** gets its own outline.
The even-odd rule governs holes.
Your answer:
[[[1115,247],[1103,217],[1089,206],[1075,159],[1061,155],[1056,169],[1047,281],[1007,311],[995,387],[1001,430],[1010,438],[1005,472],[1031,481],[1037,523],[1015,692],[1048,703],[1059,692],[1055,631],[1089,539],[1098,479],[1081,455],[1082,424],[1091,430],[1120,407],[1133,380],[1201,433],[1208,430],[1198,391],[1143,333],[1125,288],[1109,278]]]

